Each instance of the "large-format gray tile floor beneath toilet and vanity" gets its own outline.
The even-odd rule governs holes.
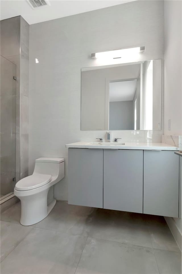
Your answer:
[[[36,225],[20,203],[1,214],[1,274],[181,273],[181,252],[163,217],[57,201]]]

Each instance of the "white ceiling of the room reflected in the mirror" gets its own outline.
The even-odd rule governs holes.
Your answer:
[[[133,101],[137,80],[109,83],[109,102]]]

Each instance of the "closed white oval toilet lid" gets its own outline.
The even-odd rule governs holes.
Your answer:
[[[48,174],[33,174],[18,181],[15,185],[16,190],[30,190],[39,188],[51,181],[51,175]]]

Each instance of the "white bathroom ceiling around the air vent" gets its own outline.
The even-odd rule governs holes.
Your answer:
[[[0,0],[0,19],[21,15],[31,25],[131,1],[134,0],[49,0],[50,6],[32,9],[27,0]]]

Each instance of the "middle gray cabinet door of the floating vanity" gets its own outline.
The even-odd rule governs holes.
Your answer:
[[[104,150],[104,208],[143,212],[143,150]]]

